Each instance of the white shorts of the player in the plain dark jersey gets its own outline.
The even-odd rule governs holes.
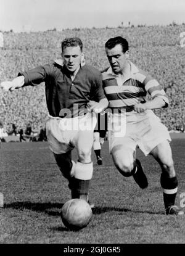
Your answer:
[[[91,136],[96,126],[96,115],[91,112],[75,118],[51,117],[46,122],[49,148],[55,154],[64,154],[76,147],[84,131]]]

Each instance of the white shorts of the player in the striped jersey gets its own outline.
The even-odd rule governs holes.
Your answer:
[[[118,133],[112,128],[109,129],[109,150],[112,152],[113,147],[121,144],[126,149],[131,149],[133,152],[136,150],[136,146],[139,146],[141,151],[148,155],[154,147],[161,142],[167,140],[171,141],[170,134],[168,133],[167,127],[160,122],[152,110],[146,110],[145,113],[127,115],[125,118],[125,128],[123,123],[120,125],[121,133]],[[118,118],[115,121],[118,123]],[[119,120],[120,122],[120,120]],[[113,119],[109,117],[109,127],[112,127]],[[117,125],[118,126],[118,125]]]

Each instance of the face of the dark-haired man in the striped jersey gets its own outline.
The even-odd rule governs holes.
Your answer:
[[[109,60],[110,66],[112,67],[112,71],[115,74],[122,73],[125,68],[127,59],[129,57],[129,51],[123,53],[121,44],[117,44],[112,49],[105,49],[107,58]]]

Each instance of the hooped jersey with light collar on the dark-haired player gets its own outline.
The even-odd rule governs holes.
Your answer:
[[[134,105],[146,102],[147,93],[154,99],[160,97],[168,107],[167,94],[158,81],[149,74],[130,63],[130,76],[116,75],[109,67],[102,72],[104,93],[109,100],[110,109],[125,109],[134,111]]]

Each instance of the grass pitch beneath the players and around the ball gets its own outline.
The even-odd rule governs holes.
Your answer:
[[[185,192],[184,139],[171,142],[178,175],[179,206]],[[74,152],[74,157],[76,154]],[[70,199],[67,181],[60,174],[47,142],[2,143],[0,149],[1,244],[160,244],[185,242],[185,217],[165,215],[160,168],[139,151],[149,187],[141,190],[132,177],[124,178],[114,167],[108,143],[102,149],[103,165],[94,160],[90,195],[95,202],[92,220],[78,232],[62,223],[60,210]],[[185,216],[185,215],[184,215]]]

